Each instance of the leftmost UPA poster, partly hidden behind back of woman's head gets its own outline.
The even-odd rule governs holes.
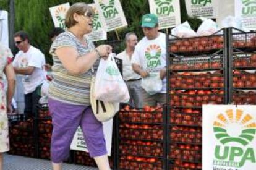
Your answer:
[[[66,15],[66,12],[69,9],[69,7],[70,7],[70,5],[69,5],[69,2],[68,2],[66,4],[61,4],[61,5],[49,8],[55,27],[61,27],[63,29],[66,28],[66,26],[65,26],[65,15]]]

